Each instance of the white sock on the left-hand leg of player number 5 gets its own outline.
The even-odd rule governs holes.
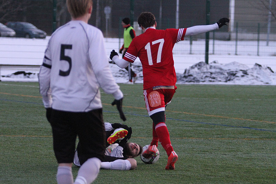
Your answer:
[[[59,166],[56,174],[58,184],[73,184],[72,168],[67,166]]]

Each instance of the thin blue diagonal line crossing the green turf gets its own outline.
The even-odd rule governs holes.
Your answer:
[[[8,99],[2,99],[2,98],[0,98],[0,100],[10,101],[10,102],[21,102],[21,103],[30,103],[30,104],[43,105],[43,103],[8,100]],[[115,111],[106,111],[106,110],[103,110],[103,112],[105,112],[105,113],[118,113],[118,112],[115,112]],[[148,115],[141,115],[141,114],[135,114],[135,113],[125,113],[125,114],[130,114],[130,115],[133,115],[133,116],[148,117]],[[200,123],[200,124],[205,124],[205,125],[216,125],[216,126],[225,126],[225,127],[232,127],[232,128],[247,128],[247,129],[251,129],[251,130],[276,132],[276,130],[266,130],[266,129],[260,129],[260,128],[244,127],[244,126],[223,125],[223,124],[216,124],[216,123],[205,123],[205,122],[200,122],[200,121],[190,121],[190,120],[182,120],[182,119],[175,119],[175,118],[168,118],[168,117],[166,117],[166,119],[174,120],[174,121],[185,121],[185,122],[190,122],[190,123]]]

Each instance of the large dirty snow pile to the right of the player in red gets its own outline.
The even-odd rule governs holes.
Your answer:
[[[216,83],[244,85],[276,85],[276,73],[270,67],[257,63],[252,68],[237,62],[219,64],[216,61],[206,64],[199,62],[181,75],[178,83]]]

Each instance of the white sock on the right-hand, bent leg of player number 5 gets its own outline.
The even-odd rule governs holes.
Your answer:
[[[90,184],[98,176],[100,171],[101,160],[90,158],[79,168],[79,172],[74,184]]]

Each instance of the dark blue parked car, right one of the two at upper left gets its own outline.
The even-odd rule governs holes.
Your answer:
[[[16,32],[16,37],[45,38],[46,32],[38,29],[29,22],[7,22],[6,26]]]

